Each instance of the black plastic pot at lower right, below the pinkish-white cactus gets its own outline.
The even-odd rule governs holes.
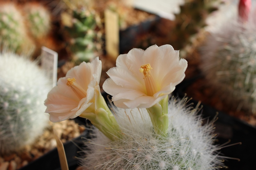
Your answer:
[[[176,86],[173,95],[180,98],[184,97],[186,88],[195,80],[196,78],[184,80],[180,85]],[[190,98],[190,96],[188,96],[188,98]],[[218,113],[218,120],[214,123],[216,127],[215,132],[218,135],[218,142],[216,142],[216,144],[221,145],[228,140],[230,140],[229,144],[242,143],[241,145],[237,144],[220,150],[220,155],[222,156],[240,159],[240,161],[236,159],[225,159],[225,166],[228,166],[229,170],[255,170],[256,128],[235,117],[231,117],[228,114],[205,105],[203,102],[204,101],[202,101],[201,106],[203,106],[202,115],[204,118],[211,120]],[[193,103],[195,107],[198,101],[192,99],[188,101],[188,104],[190,103]]]

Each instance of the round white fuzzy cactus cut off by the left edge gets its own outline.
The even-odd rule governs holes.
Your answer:
[[[0,154],[31,144],[48,126],[44,72],[25,57],[0,54]]]

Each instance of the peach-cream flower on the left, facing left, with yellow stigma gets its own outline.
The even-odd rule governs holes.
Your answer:
[[[91,63],[81,63],[58,80],[44,101],[50,121],[60,122],[81,115],[94,103],[94,87],[99,85],[101,61],[96,57]]]

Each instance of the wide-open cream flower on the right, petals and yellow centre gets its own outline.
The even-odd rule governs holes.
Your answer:
[[[108,70],[103,89],[121,108],[149,108],[174,91],[185,78],[187,61],[171,45],[133,48]]]

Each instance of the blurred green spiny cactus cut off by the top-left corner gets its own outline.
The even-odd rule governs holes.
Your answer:
[[[0,45],[17,53],[28,54],[33,42],[27,35],[24,18],[13,3],[0,4]]]

